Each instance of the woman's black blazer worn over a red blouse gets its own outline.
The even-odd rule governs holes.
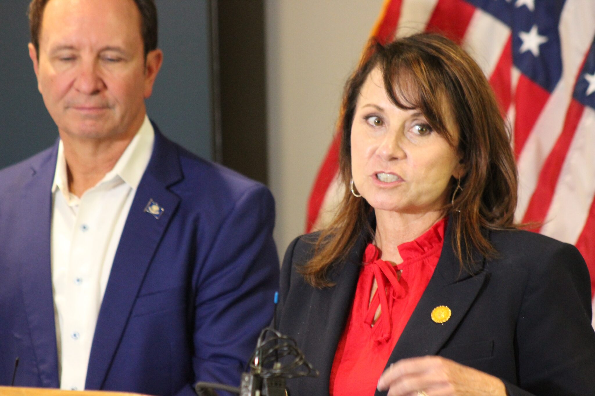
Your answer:
[[[578,250],[536,233],[489,232],[499,254],[495,259],[476,254],[479,264],[471,275],[459,270],[451,233],[449,224],[436,270],[387,366],[406,357],[440,355],[497,376],[510,395],[595,395],[591,289]],[[331,268],[328,277],[336,286],[316,289],[296,267],[312,257],[317,237],[293,240],[281,267],[278,328],[295,338],[320,370],[318,378],[289,379],[292,396],[328,394],[369,242],[362,235],[346,261]],[[439,305],[452,310],[444,324],[430,317]]]

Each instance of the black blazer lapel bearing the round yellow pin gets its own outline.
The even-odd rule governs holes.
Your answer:
[[[483,257],[477,252],[474,255],[477,265],[474,273],[459,271],[459,261],[452,249],[450,221],[445,235],[448,237],[444,239],[436,270],[394,347],[385,370],[400,359],[437,354],[464,318],[486,280]],[[431,319],[433,309],[441,305],[452,311],[450,319],[443,324]],[[375,394],[386,395],[386,392],[376,391]]]

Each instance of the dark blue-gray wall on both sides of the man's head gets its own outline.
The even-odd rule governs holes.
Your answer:
[[[164,134],[212,158],[209,14],[207,0],[156,0],[164,64],[149,116]],[[0,168],[51,145],[57,128],[37,91],[27,53],[28,0],[0,1]]]

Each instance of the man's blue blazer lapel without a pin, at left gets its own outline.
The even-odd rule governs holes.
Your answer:
[[[54,297],[51,270],[51,218],[52,183],[58,153],[58,143],[49,155],[32,167],[32,177],[27,180],[15,208],[18,221],[29,226],[14,227],[15,240],[21,248],[20,276],[24,309],[39,379],[43,387],[58,388],[58,349],[54,322]],[[35,226],[33,226],[35,224]]]

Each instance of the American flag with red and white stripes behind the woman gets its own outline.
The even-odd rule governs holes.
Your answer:
[[[512,129],[516,220],[577,246],[593,297],[595,0],[386,0],[372,36],[418,31],[445,34],[483,69]],[[324,227],[343,197],[339,144],[337,133],[309,198],[307,232]]]

